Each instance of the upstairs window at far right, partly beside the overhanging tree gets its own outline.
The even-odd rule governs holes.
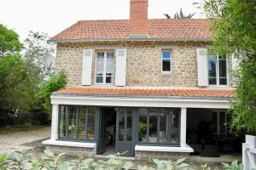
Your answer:
[[[227,85],[227,59],[225,56],[211,55],[208,59],[209,85]]]

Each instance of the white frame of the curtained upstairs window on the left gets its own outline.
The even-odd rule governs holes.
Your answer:
[[[96,77],[97,77],[97,73],[96,73],[96,67],[97,67],[97,54],[98,53],[104,53],[104,58],[103,58],[103,82],[96,82]],[[107,59],[107,53],[113,53],[113,59]],[[114,61],[114,52],[111,50],[107,50],[107,51],[96,51],[96,57],[95,57],[95,84],[103,84],[103,85],[108,85],[108,84],[113,84],[113,71],[112,71],[112,82],[107,83],[106,82],[106,70],[107,70],[107,60],[112,60]],[[113,63],[114,65],[114,63]],[[112,68],[113,69],[113,68]]]

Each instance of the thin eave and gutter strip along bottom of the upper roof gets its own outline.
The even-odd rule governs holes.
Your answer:
[[[210,42],[206,37],[173,37],[173,38],[82,38],[82,39],[49,39],[47,42]]]

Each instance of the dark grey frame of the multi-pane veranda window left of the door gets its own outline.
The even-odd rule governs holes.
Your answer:
[[[66,124],[66,132],[65,132],[65,137],[61,137],[60,136],[60,123],[61,123],[61,106],[66,107],[65,109],[65,114],[66,114],[66,118],[67,118],[67,124]],[[68,138],[68,109],[67,107],[74,107],[75,108],[75,137],[74,139],[69,139]],[[84,139],[79,139],[78,138],[78,125],[79,125],[79,108],[85,108],[85,120],[84,120]],[[58,130],[57,130],[57,134],[58,134],[58,140],[63,140],[63,141],[77,141],[77,142],[96,142],[96,112],[95,112],[95,116],[94,116],[94,139],[88,139],[88,117],[89,117],[89,107],[95,107],[96,106],[90,106],[90,105],[59,105],[59,109],[58,109]]]

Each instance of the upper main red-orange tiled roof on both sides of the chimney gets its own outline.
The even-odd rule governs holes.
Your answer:
[[[148,20],[149,40],[153,39],[202,39],[211,37],[207,19],[154,19]],[[80,20],[61,31],[50,41],[86,41],[97,39],[125,39],[129,35],[129,20]]]

